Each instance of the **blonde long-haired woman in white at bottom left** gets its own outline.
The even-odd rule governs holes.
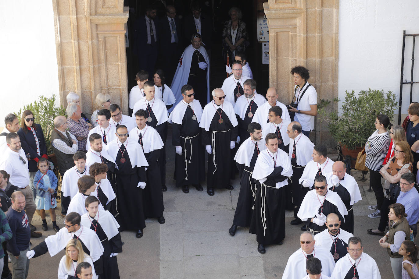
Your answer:
[[[71,276],[77,278],[77,265],[83,261],[87,261],[92,266],[93,279],[97,279],[98,276],[95,273],[92,258],[83,251],[80,240],[73,238],[68,241],[67,246],[65,246],[65,256],[59,261],[58,279],[67,279]]]

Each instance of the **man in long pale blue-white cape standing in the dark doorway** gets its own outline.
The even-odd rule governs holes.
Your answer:
[[[209,57],[201,44],[201,35],[198,33],[192,34],[191,44],[185,48],[179,59],[170,86],[176,97],[176,103],[173,106],[183,99],[181,88],[184,84],[189,84],[194,88],[201,107],[209,103]]]

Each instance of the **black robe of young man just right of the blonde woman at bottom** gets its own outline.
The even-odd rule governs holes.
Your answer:
[[[125,156],[124,156],[125,158]],[[108,239],[106,233],[103,231],[101,224],[98,223],[95,219],[92,220],[90,228],[95,230],[98,238],[101,240],[103,246],[103,273],[99,276],[99,279],[119,279],[119,269],[118,261],[116,256],[110,257],[111,253],[121,253],[122,252],[122,241],[121,234],[118,233],[113,238]]]

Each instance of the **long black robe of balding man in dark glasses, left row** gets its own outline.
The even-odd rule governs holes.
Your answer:
[[[138,182],[146,181],[145,168],[132,167],[128,152],[124,152],[125,162],[121,163],[122,152],[125,146],[122,144],[116,154],[115,169],[116,186],[116,210],[115,216],[121,230],[140,230],[145,228],[144,212],[142,207],[142,189],[137,187]]]

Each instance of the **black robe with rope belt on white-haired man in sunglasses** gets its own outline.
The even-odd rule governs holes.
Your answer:
[[[218,113],[214,114],[209,131],[202,128],[202,144],[212,146],[212,131],[215,133],[215,164],[213,162],[214,152],[208,155],[208,171],[207,171],[207,187],[208,188],[225,188],[230,184],[230,177],[234,176],[234,169],[232,169],[233,156],[230,149],[230,141],[237,139],[237,125],[233,127],[230,119],[221,108],[218,108]],[[220,114],[223,123],[220,124]],[[230,131],[228,131],[230,130]],[[214,174],[212,174],[215,171]]]

